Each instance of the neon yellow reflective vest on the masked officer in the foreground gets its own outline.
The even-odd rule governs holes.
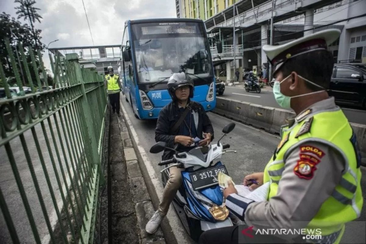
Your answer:
[[[306,118],[306,115],[303,118]],[[329,121],[332,121],[332,126],[329,126]],[[311,131],[307,128],[310,126]],[[339,243],[344,232],[344,224],[359,217],[363,203],[359,168],[361,158],[358,157],[356,149],[356,136],[340,109],[315,113],[292,127],[282,129],[282,140],[265,168],[264,182],[270,182],[268,199],[277,195],[278,183],[284,170],[283,160],[292,149],[305,142],[315,141],[339,151],[346,162],[341,181],[332,196],[321,205],[315,217],[307,225],[307,229],[320,228],[323,237],[335,235],[336,240],[332,243]],[[317,149],[309,146],[308,150],[316,153]]]

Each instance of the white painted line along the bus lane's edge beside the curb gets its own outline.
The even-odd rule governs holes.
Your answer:
[[[141,169],[141,173],[143,176],[143,179],[145,180],[147,191],[150,196],[150,200],[153,204],[153,209],[158,208],[158,204],[160,203],[162,196],[163,196],[163,185],[160,182],[160,175],[158,176],[155,173],[155,170],[153,168],[152,163],[150,162],[145,149],[142,146],[139,146],[139,138],[137,136],[137,133],[131,123],[131,120],[129,119],[129,116],[126,112],[126,109],[124,108],[122,102],[120,102],[122,114],[124,121],[126,122],[128,132],[131,135],[131,142],[135,149],[135,153],[138,158],[138,164],[139,168]],[[127,159],[126,159],[127,160]],[[153,210],[152,209],[152,210]],[[147,220],[153,215],[153,212],[146,214]],[[138,216],[139,218],[139,216]],[[146,224],[146,223],[145,223]],[[186,238],[186,231],[183,228],[182,225],[180,225],[180,219],[178,218],[178,215],[176,214],[173,207],[169,208],[167,216],[163,219],[163,222],[161,223],[161,229],[163,230],[165,241],[169,244],[175,244],[175,243],[192,243],[191,239]],[[142,226],[143,232],[145,232],[145,225]]]

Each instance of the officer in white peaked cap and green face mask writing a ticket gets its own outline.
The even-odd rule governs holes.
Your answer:
[[[267,200],[253,202],[239,196],[232,184],[224,190],[226,206],[245,221],[244,228],[321,229],[317,243],[339,243],[345,224],[360,216],[361,155],[356,136],[326,92],[333,71],[327,47],[339,35],[339,30],[329,29],[284,45],[263,46],[275,67],[276,101],[292,108],[296,117],[281,129],[281,141],[264,172],[244,178],[243,184],[252,190],[268,182]],[[243,235],[238,226],[209,230],[200,243],[305,241],[302,235],[254,233],[253,238]]]

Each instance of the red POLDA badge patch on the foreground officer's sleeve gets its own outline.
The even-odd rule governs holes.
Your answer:
[[[314,156],[304,153],[314,154]],[[300,146],[300,159],[294,168],[294,173],[301,179],[310,180],[314,176],[316,165],[320,163],[320,159],[325,153],[313,146]]]

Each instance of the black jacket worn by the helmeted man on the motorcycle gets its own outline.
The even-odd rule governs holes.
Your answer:
[[[198,102],[193,102],[191,106],[194,111],[198,111],[198,126],[197,126],[197,135],[199,138],[202,138],[202,132],[211,133],[213,140],[213,127],[209,117],[206,114],[205,109]],[[177,102],[171,102],[164,106],[161,109],[158,121],[156,123],[155,129],[155,141],[156,142],[165,142],[168,147],[174,147],[174,138],[178,135],[179,130],[172,132],[169,134],[169,130],[173,127],[177,120],[179,120],[180,112]],[[180,126],[184,126],[182,123]],[[165,150],[162,156],[163,160],[167,160],[172,158],[173,152],[170,150]]]

